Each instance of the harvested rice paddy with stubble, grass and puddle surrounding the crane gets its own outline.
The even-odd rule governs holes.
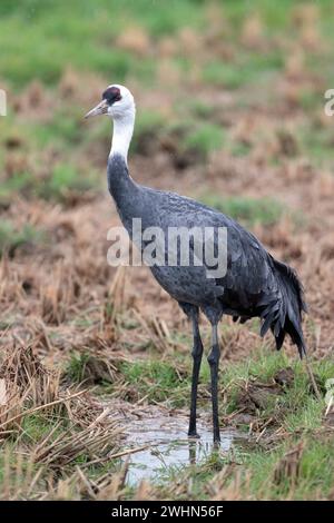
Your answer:
[[[1,0],[0,500],[334,500],[334,4]],[[188,443],[191,329],[147,267],[110,267],[109,83],[132,177],[233,216],[295,267],[310,363],[224,318]],[[209,325],[202,319],[205,347]],[[331,382],[332,379],[332,382]]]

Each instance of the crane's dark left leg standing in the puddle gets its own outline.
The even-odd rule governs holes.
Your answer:
[[[198,310],[191,314],[193,319],[193,335],[194,335],[194,347],[191,356],[194,359],[193,364],[193,378],[191,378],[191,401],[190,401],[190,418],[189,418],[189,431],[188,436],[199,437],[196,432],[196,406],[197,406],[197,385],[199,368],[203,355],[203,343],[200,339],[199,326],[198,326]]]

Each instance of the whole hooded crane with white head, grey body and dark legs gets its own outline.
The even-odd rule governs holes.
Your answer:
[[[242,323],[257,316],[262,320],[262,336],[271,329],[279,351],[285,335],[288,334],[303,357],[306,347],[302,332],[302,312],[306,312],[306,305],[302,284],[294,269],[276,260],[253,234],[228,216],[194,199],[144,187],[132,180],[128,171],[127,155],[134,131],[136,106],[131,92],[126,87],[109,86],[102,93],[101,102],[90,110],[86,118],[97,115],[107,115],[114,120],[107,169],[108,188],[130,238],[135,218],[140,218],[143,230],[148,227],[159,227],[163,231],[170,227],[227,230],[227,270],[222,277],[207,277],[207,267],[195,266],[194,263],[188,266],[157,263],[150,267],[155,278],[178,302],[193,324],[194,362],[188,431],[188,435],[193,437],[198,437],[196,402],[203,356],[199,310],[212,325],[212,347],[207,359],[210,367],[214,442],[219,442],[219,320],[224,314],[232,315],[234,320],[239,319]],[[190,249],[194,251],[194,244]]]

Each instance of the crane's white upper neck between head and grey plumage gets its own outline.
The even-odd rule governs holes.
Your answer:
[[[120,155],[128,162],[128,150],[134,134],[136,109],[130,108],[122,115],[114,117],[114,132],[109,156]]]

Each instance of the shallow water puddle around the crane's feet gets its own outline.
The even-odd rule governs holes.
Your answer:
[[[125,417],[126,448],[143,448],[129,454],[127,484],[136,485],[141,480],[161,478],[169,467],[199,464],[214,450],[210,418],[202,415],[197,432],[199,440],[187,437],[188,416],[184,411],[168,411],[150,406],[137,412],[119,411]],[[233,431],[222,431],[219,452],[228,453],[239,435]]]

